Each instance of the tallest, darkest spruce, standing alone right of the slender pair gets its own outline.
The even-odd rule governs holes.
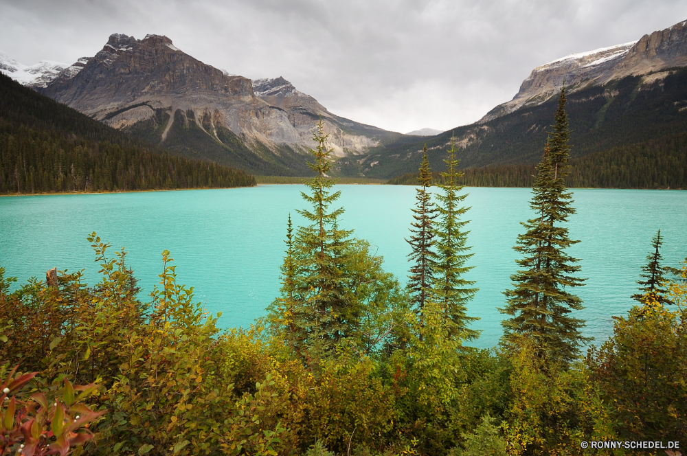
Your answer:
[[[567,291],[582,286],[585,279],[574,277],[580,271],[575,264],[579,260],[565,253],[567,247],[579,241],[570,240],[567,228],[561,226],[575,214],[572,193],[563,182],[570,168],[565,102],[563,87],[554,131],[537,166],[532,188],[530,207],[537,218],[521,223],[526,233],[518,236],[513,247],[523,257],[516,260],[521,269],[510,276],[514,288],[504,292],[506,306],[499,310],[510,316],[502,322],[504,345],[515,341],[517,334],[528,334],[534,340],[537,356],[568,363],[589,339],[581,333],[585,321],[570,316],[573,310],[583,309],[582,300]]]

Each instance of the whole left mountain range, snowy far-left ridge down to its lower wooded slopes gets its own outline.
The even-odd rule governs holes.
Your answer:
[[[74,65],[0,61],[13,78],[109,126],[256,174],[308,175],[306,151],[320,118],[336,157],[403,136],[338,117],[284,78],[254,84],[206,65],[166,36],[113,34]]]

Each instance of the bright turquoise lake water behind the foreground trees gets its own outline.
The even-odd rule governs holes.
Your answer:
[[[402,185],[337,185],[335,207],[346,212],[340,226],[369,240],[385,258],[385,269],[405,283],[409,246],[404,238],[412,219],[415,188]],[[114,249],[129,252],[145,297],[161,273],[161,251],[177,265],[177,280],[194,286],[196,298],[211,312],[222,311],[224,328],[249,326],[279,293],[286,218],[301,223],[295,209],[305,207],[303,185],[260,185],[227,190],[186,190],[124,194],[11,196],[0,198],[0,266],[8,275],[45,278],[45,271],[85,269],[89,284],[98,266],[86,237],[97,231]],[[512,247],[532,217],[530,189],[466,188],[471,206],[469,244],[475,255],[469,273],[480,291],[469,315],[482,337],[473,345],[492,347],[501,336],[502,291],[510,286],[517,254]],[[640,268],[657,229],[664,236],[664,265],[678,266],[687,256],[687,192],[661,190],[575,190],[568,227],[582,242],[570,249],[582,258],[577,288],[587,320],[585,334],[596,343],[613,331],[612,315],[633,305]]]

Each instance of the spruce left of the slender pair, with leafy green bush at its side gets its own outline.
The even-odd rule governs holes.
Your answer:
[[[316,126],[315,160],[308,166],[317,175],[306,182],[310,194],[301,192],[312,209],[298,211],[311,224],[294,234],[289,217],[281,296],[266,319],[273,341],[313,369],[343,344],[371,352],[407,339],[399,323],[407,314],[405,293],[381,268],[382,258],[370,253],[369,242],[339,227],[343,208],[329,209],[340,192],[330,191],[328,135],[324,122]]]

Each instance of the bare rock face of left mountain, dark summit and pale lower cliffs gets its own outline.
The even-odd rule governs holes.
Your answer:
[[[93,58],[61,69],[38,90],[114,128],[157,138],[163,145],[175,122],[192,122],[228,146],[221,135],[225,128],[258,155],[265,150],[280,155],[282,145],[297,152],[313,147],[313,129],[320,118],[337,157],[363,153],[379,145],[376,133],[389,133],[374,127],[369,132],[352,130],[346,119],[284,78],[252,82],[231,75],[158,35],[137,40],[113,34]]]

